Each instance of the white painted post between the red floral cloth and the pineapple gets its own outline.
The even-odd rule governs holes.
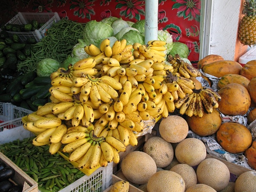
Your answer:
[[[217,54],[233,60],[241,0],[201,1],[206,2],[202,2],[200,59]]]

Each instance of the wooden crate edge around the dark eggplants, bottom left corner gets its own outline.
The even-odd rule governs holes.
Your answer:
[[[38,185],[31,177],[29,177],[22,169],[20,169],[16,164],[14,164],[9,158],[7,158],[3,153],[0,152],[0,161],[5,163],[6,166],[12,167],[15,170],[14,181],[19,186],[25,186],[23,192],[37,192]],[[26,182],[26,184],[25,184]],[[29,186],[28,186],[29,185]]]

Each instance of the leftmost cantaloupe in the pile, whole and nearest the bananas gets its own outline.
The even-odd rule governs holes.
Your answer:
[[[154,159],[144,152],[133,151],[127,154],[121,163],[123,175],[131,182],[145,184],[156,173]]]

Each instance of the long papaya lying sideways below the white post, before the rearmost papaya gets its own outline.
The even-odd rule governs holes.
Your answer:
[[[202,69],[204,73],[215,77],[222,77],[226,74],[240,74],[242,70],[242,66],[239,62],[232,61],[232,60],[220,60],[216,62],[209,63],[205,65]]]

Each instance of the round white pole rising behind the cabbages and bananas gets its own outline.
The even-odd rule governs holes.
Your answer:
[[[145,44],[157,40],[158,34],[158,0],[145,0]]]

